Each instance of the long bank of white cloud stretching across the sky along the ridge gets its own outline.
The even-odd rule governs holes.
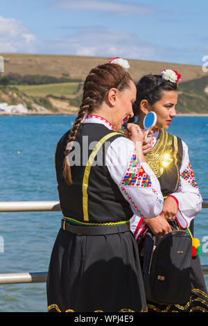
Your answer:
[[[171,48],[153,44],[135,33],[112,31],[101,26],[69,28],[71,34],[49,40],[37,40],[34,33],[17,19],[0,16],[0,53],[45,53],[120,56],[127,59],[201,64],[206,44],[198,49]]]

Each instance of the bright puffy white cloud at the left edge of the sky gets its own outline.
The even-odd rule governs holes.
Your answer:
[[[36,37],[22,22],[0,16],[0,52],[32,53],[36,50]]]

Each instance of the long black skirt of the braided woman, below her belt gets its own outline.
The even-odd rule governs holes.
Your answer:
[[[47,279],[48,311],[146,311],[132,232],[77,235],[60,229]]]

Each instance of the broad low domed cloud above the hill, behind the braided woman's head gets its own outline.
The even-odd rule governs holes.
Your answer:
[[[155,56],[161,52],[158,46],[140,40],[135,34],[105,30],[97,26],[79,28],[73,35],[50,40],[44,44],[44,49],[54,54],[121,56],[141,60],[155,60]]]

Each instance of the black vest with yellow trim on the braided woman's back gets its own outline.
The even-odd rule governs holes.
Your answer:
[[[128,201],[112,180],[105,165],[107,146],[117,137],[124,137],[121,132],[112,132],[99,123],[80,124],[69,159],[73,180],[71,185],[67,185],[62,176],[64,150],[69,131],[58,142],[55,152],[55,170],[60,206],[64,217],[71,218],[71,221],[79,221],[83,224],[117,223],[128,221],[133,215]],[[109,137],[105,141],[107,146],[101,146],[97,154],[92,157],[95,145],[103,137]],[[79,155],[76,157],[76,164],[74,164],[73,153],[80,153],[80,157]],[[86,164],[87,160],[91,160],[91,163]]]

